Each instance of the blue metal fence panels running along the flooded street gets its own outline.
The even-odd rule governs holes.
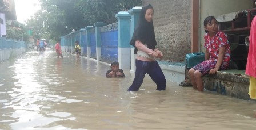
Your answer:
[[[101,44],[99,60],[103,62],[118,61],[118,23],[100,27],[99,30],[101,38],[101,43],[98,43]],[[87,31],[75,31],[61,37],[61,46],[63,51],[71,53],[74,51],[75,41],[79,41],[82,55],[87,56],[87,48],[90,47],[90,58],[97,59],[96,38],[95,28]]]

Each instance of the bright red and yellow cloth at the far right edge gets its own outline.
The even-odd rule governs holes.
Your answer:
[[[256,18],[251,22],[250,45],[245,73],[250,76],[249,95],[256,99]],[[254,116],[256,118],[256,115]]]

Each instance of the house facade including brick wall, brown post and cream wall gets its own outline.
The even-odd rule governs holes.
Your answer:
[[[184,61],[187,53],[204,52],[203,20],[230,12],[252,9],[255,0],[143,0],[154,7],[154,28],[163,60]]]

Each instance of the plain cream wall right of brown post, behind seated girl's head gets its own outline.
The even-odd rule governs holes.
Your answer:
[[[204,52],[203,36],[203,20],[207,16],[217,16],[230,12],[241,11],[253,8],[253,0],[201,0],[200,1],[200,23],[199,23],[199,43],[200,51]]]

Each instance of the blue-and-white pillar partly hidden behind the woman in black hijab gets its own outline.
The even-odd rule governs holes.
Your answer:
[[[132,9],[128,10],[130,16],[131,16],[131,38],[133,37],[133,32],[135,30],[135,27],[137,26],[137,22],[139,19],[139,13],[141,12],[142,7],[133,7]],[[135,72],[136,66],[135,66],[135,54],[134,54],[134,47],[130,46],[130,53],[131,53],[131,72]]]

